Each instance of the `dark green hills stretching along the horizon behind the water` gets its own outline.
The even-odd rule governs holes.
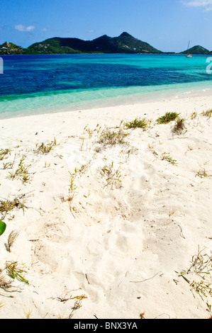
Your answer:
[[[211,55],[212,51],[196,45],[187,52],[193,55]],[[79,38],[48,38],[43,42],[33,43],[27,48],[17,46],[13,43],[0,45],[0,55],[43,55],[43,54],[73,54],[73,53],[164,53],[152,47],[150,44],[138,40],[129,33],[121,33],[118,37],[102,35],[94,40],[81,40]]]

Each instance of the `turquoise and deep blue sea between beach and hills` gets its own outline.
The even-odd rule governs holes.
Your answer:
[[[186,96],[212,89],[196,55],[10,55],[0,74],[0,118]]]

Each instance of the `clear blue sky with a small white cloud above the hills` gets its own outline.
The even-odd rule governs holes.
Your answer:
[[[127,31],[164,52],[212,50],[212,0],[1,0],[0,44],[52,37],[92,40]]]

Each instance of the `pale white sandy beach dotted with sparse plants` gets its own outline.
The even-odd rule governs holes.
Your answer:
[[[0,200],[16,205],[0,216],[0,318],[211,317],[211,107],[196,96],[1,120]],[[166,112],[182,133],[156,122]],[[135,118],[151,122],[126,130]],[[99,142],[107,128],[125,143]]]

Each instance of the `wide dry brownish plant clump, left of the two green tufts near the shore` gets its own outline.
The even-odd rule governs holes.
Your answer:
[[[128,133],[125,133],[121,128],[118,132],[111,131],[108,128],[101,132],[99,136],[99,143],[104,145],[123,145],[125,144],[125,137],[128,136]]]

